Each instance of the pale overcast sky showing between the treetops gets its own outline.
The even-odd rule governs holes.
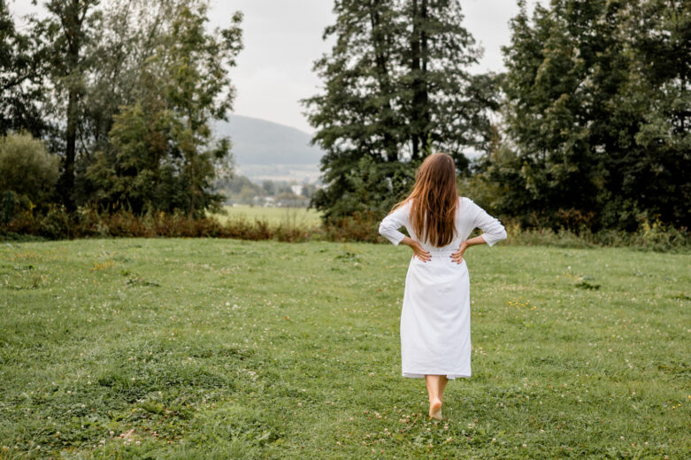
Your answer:
[[[516,0],[461,4],[465,27],[485,49],[473,71],[502,71],[501,46],[509,43],[508,21],[518,13]],[[244,50],[231,74],[237,90],[234,113],[314,131],[299,101],[319,91],[320,80],[311,68],[330,48],[321,35],[334,22],[332,6],[331,0],[211,0],[212,26],[224,27],[233,12],[244,13]],[[29,0],[11,0],[10,9],[16,17],[37,11]]]

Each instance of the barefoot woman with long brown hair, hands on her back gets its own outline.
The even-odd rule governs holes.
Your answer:
[[[398,229],[404,226],[411,236]],[[467,240],[480,227],[480,236]],[[441,419],[449,379],[471,376],[470,280],[465,250],[506,238],[499,220],[458,196],[449,155],[426,157],[411,195],[381,221],[379,233],[412,249],[401,312],[403,377],[425,377],[429,416]]]

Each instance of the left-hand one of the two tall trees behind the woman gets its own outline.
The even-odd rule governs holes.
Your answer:
[[[361,158],[395,163],[400,155],[404,120],[395,105],[395,69],[403,27],[393,6],[390,0],[336,1],[336,22],[324,32],[325,40],[336,38],[331,53],[314,64],[325,91],[303,103],[318,129],[312,142],[326,150],[321,171],[327,188],[312,200],[326,219],[353,211],[338,204],[355,192],[349,176]]]

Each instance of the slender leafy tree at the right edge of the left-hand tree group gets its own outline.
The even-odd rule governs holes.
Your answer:
[[[180,7],[168,35],[165,58],[169,65],[165,75],[165,96],[179,123],[173,126],[173,138],[185,160],[184,175],[188,180],[188,214],[203,215],[209,202],[213,162],[230,151],[227,139],[212,144],[209,125],[212,119],[227,120],[233,105],[234,88],[227,68],[235,65],[235,56],[242,50],[242,13],[236,12],[230,27],[207,34],[204,22],[208,5]]]

